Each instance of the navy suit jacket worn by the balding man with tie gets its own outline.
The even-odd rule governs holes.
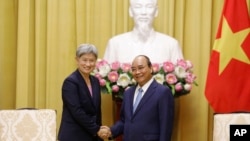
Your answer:
[[[113,137],[123,133],[123,141],[170,141],[174,117],[170,89],[154,80],[133,114],[135,89],[124,93],[120,120],[111,127]]]

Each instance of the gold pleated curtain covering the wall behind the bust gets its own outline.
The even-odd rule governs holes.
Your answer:
[[[173,141],[212,140],[204,87],[222,6],[222,0],[159,0],[155,28],[180,41],[199,84],[176,100]],[[132,27],[128,0],[0,0],[0,109],[56,109],[59,127],[61,85],[76,68],[77,45],[95,44],[102,58],[108,39]],[[102,95],[102,109],[103,123],[112,125],[110,95]]]

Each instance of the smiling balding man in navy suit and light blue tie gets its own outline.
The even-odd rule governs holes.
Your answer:
[[[168,87],[153,79],[152,72],[147,56],[139,55],[133,60],[132,75],[138,84],[124,93],[120,120],[110,128],[113,138],[123,134],[123,141],[171,140],[174,98]],[[139,89],[142,98],[136,108]]]

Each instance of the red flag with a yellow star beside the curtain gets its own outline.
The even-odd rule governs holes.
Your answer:
[[[246,0],[225,0],[205,88],[216,113],[250,112],[249,32]]]

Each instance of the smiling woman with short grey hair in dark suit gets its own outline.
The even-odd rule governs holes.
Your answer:
[[[60,141],[101,141],[101,91],[99,80],[91,75],[97,60],[92,44],[81,44],[76,51],[78,68],[63,82],[63,112]]]

